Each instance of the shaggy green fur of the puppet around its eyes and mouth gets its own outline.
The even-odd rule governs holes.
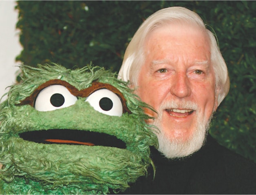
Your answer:
[[[139,101],[116,74],[88,65],[66,69],[57,64],[22,65],[22,82],[11,86],[0,104],[0,194],[106,194],[124,191],[130,182],[145,175],[149,146],[157,147],[154,128],[145,123],[146,104]],[[113,85],[126,98],[131,113],[121,117],[95,111],[86,98],[54,111],[37,111],[18,105],[43,83],[52,79],[68,82],[78,90],[92,82]],[[104,146],[44,144],[25,141],[19,134],[49,129],[73,129],[113,135],[126,149]]]

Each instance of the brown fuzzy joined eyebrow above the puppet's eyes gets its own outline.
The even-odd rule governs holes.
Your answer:
[[[17,104],[17,105],[29,104],[31,106],[34,106],[35,98],[38,96],[38,93],[40,93],[40,91],[42,91],[42,89],[49,87],[51,85],[62,85],[64,87],[66,87],[71,94],[73,94],[77,97],[82,97],[82,98],[88,97],[90,94],[92,94],[93,92],[95,92],[99,89],[108,89],[119,96],[119,98],[123,104],[123,113],[124,112],[131,113],[126,105],[126,99],[124,98],[124,95],[113,85],[110,85],[107,83],[102,83],[102,82],[93,82],[92,86],[90,86],[86,89],[78,90],[76,87],[74,87],[73,85],[69,84],[68,82],[66,82],[64,80],[59,80],[59,79],[49,80],[49,81],[46,81],[45,83],[43,83],[42,85],[40,85],[37,89],[35,89],[33,91],[33,93],[29,97],[25,98],[24,100],[22,100],[20,102],[20,104]]]

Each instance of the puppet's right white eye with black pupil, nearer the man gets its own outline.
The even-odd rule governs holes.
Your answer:
[[[121,117],[123,105],[117,94],[108,89],[99,89],[88,96],[89,102],[96,111],[100,113]]]

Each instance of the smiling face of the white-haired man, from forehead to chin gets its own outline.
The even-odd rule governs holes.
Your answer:
[[[182,145],[200,133],[204,139],[218,105],[208,38],[189,24],[166,25],[150,32],[145,54],[136,93],[159,113],[153,124],[170,142]]]

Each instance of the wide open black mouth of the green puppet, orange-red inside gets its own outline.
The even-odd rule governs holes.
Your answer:
[[[126,148],[126,143],[115,136],[71,129],[50,129],[20,133],[20,138],[26,141],[46,144],[69,144],[69,145],[101,145],[107,147]]]

